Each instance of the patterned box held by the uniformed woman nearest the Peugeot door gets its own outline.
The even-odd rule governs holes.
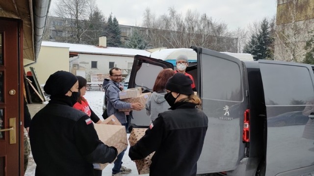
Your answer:
[[[130,145],[133,146],[136,144],[136,142],[142,138],[145,134],[147,129],[139,129],[139,128],[133,128],[132,132],[129,137]],[[149,174],[149,167],[152,163],[152,157],[155,154],[155,152],[149,154],[146,158],[135,160],[135,165],[137,168],[137,172],[139,175],[142,174]]]

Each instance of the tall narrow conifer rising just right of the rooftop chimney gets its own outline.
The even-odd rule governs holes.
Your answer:
[[[119,22],[116,17],[112,19],[112,14],[109,15],[105,30],[105,34],[107,36],[107,46],[121,46],[121,30],[119,28]]]

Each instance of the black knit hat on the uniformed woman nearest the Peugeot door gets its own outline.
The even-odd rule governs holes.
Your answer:
[[[194,93],[191,87],[192,83],[193,82],[190,77],[184,75],[183,73],[176,73],[169,78],[165,88],[184,95],[190,95]]]

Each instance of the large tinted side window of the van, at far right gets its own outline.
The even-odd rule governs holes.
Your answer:
[[[266,105],[305,105],[314,98],[307,67],[260,63],[260,68]]]

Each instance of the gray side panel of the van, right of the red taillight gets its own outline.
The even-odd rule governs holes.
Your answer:
[[[311,165],[313,172],[314,120],[303,111],[314,106],[312,67],[267,60],[259,66],[267,114],[265,175],[302,175]]]

